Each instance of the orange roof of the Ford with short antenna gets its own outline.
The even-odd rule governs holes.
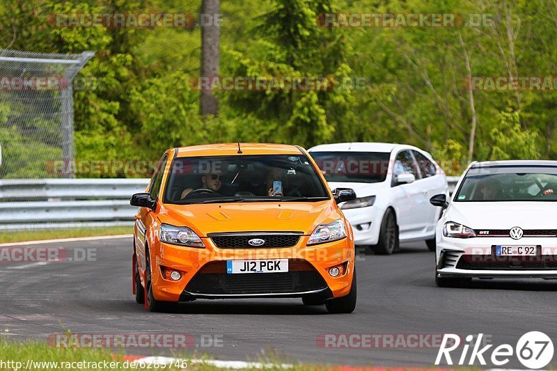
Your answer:
[[[219,155],[303,155],[297,145],[277,143],[240,143],[242,153],[238,153],[239,143],[215,143],[179,147],[177,157],[219,156]]]

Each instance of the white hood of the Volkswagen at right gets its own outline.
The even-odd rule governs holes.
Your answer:
[[[554,202],[452,202],[446,220],[472,229],[555,229]]]

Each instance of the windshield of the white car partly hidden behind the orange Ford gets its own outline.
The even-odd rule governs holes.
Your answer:
[[[327,182],[384,182],[389,152],[311,152]]]

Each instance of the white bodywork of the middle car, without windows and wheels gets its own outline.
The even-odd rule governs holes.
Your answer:
[[[423,177],[418,166],[418,178],[409,184],[393,186],[395,157],[403,150],[414,150],[432,161],[436,174]],[[354,229],[354,239],[358,245],[375,245],[386,210],[395,211],[400,242],[433,239],[439,219],[439,207],[430,204],[430,197],[436,194],[448,196],[445,173],[431,155],[411,145],[392,143],[335,143],[317,145],[308,150],[314,156],[317,152],[384,152],[389,154],[389,170],[384,182],[329,182],[331,189],[352,188],[358,198],[375,196],[370,207],[346,209],[343,213]]]

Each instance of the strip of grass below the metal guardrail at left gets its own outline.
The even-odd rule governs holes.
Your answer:
[[[6,244],[10,242],[38,241],[40,239],[93,237],[104,235],[131,235],[133,232],[134,228],[132,226],[17,230],[13,232],[1,232],[0,244]]]

